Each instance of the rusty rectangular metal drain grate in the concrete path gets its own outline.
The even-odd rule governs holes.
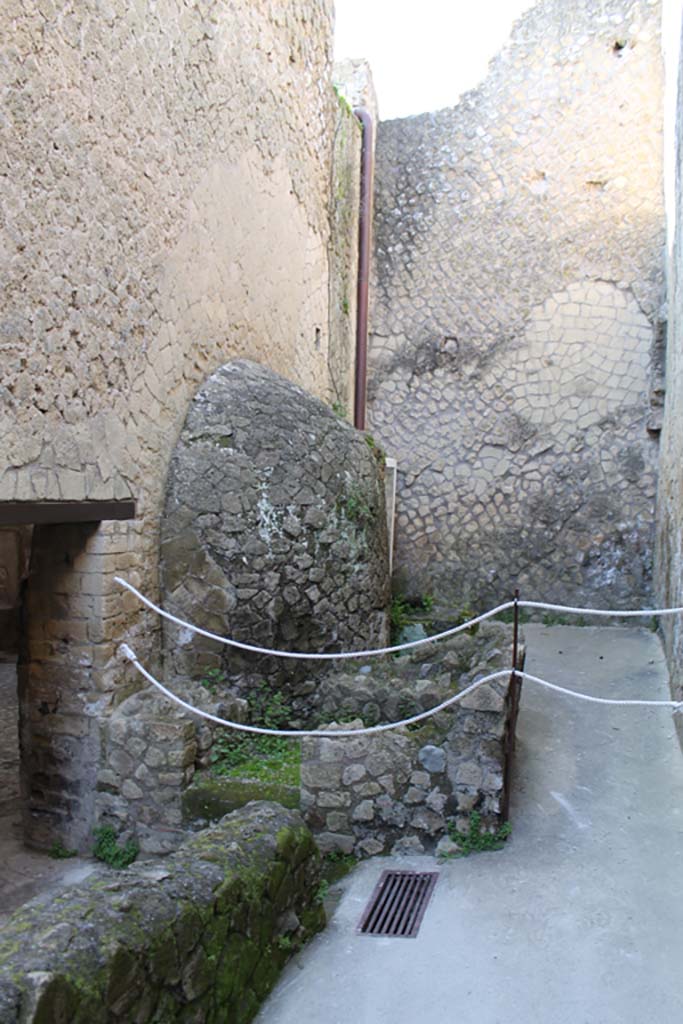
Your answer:
[[[414,939],[437,878],[438,871],[383,871],[358,931],[364,935]]]

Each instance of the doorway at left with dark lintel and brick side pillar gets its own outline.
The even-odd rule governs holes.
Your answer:
[[[17,850],[33,878],[41,872],[29,851],[45,860],[50,850],[87,853],[92,845],[112,688],[106,632],[118,627],[112,552],[127,543],[127,524],[98,513],[132,518],[134,504],[0,505],[0,846],[17,848],[0,848],[0,910],[3,888],[17,883]]]

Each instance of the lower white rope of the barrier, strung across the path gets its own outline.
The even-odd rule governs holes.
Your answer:
[[[461,690],[460,693],[455,693],[452,697],[449,697],[447,700],[443,700],[441,703],[436,705],[434,708],[429,708],[427,711],[420,712],[418,715],[412,715],[410,718],[400,719],[398,722],[387,722],[382,725],[364,726],[361,729],[267,729],[258,725],[245,725],[243,722],[232,722],[229,719],[220,718],[218,715],[212,715],[209,712],[203,711],[201,708],[197,708],[187,700],[183,700],[182,697],[177,696],[164,686],[163,683],[160,683],[158,679],[155,679],[152,673],[147,672],[144,666],[139,663],[135,651],[132,650],[128,644],[121,644],[120,651],[124,657],[127,657],[132,663],[137,672],[139,672],[139,674],[143,676],[147,682],[152,683],[153,686],[156,686],[156,688],[163,693],[164,696],[168,697],[169,700],[174,701],[174,703],[177,703],[180,708],[190,712],[193,715],[199,715],[201,718],[205,718],[209,722],[214,722],[216,725],[226,726],[229,729],[237,729],[239,732],[254,732],[259,736],[326,736],[328,739],[334,739],[338,736],[367,736],[375,732],[387,732],[389,729],[397,729],[400,726],[413,725],[415,722],[422,722],[424,719],[431,718],[432,715],[436,715],[438,712],[444,711],[446,708],[458,703],[466,697],[468,693],[472,693],[479,686],[483,686],[484,683],[490,683],[495,679],[507,678],[512,675],[512,671],[510,669],[492,672],[488,676],[476,679],[469,686],[466,686],[464,690]],[[590,693],[581,693],[578,690],[569,690],[564,686],[558,686],[556,683],[550,683],[546,679],[540,679],[538,676],[531,676],[527,672],[515,671],[514,675],[518,678],[528,680],[528,682],[537,683],[539,686],[544,686],[556,693],[562,693],[565,696],[571,696],[578,700],[587,700],[591,703],[612,705],[618,707],[673,708],[675,712],[680,711],[681,708],[683,708],[683,701],[677,700],[618,700],[607,697],[595,697]]]

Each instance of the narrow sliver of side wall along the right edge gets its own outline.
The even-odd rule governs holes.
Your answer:
[[[683,69],[680,5],[668,4],[666,54],[671,105],[667,121],[670,185],[668,244],[667,396],[657,500],[657,603],[683,605]],[[660,620],[672,692],[683,693],[683,617]],[[681,729],[680,716],[676,723]],[[683,732],[681,733],[683,740]]]

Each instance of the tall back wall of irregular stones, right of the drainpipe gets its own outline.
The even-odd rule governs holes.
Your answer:
[[[659,14],[543,0],[458,106],[380,124],[370,429],[409,592],[648,600]]]

